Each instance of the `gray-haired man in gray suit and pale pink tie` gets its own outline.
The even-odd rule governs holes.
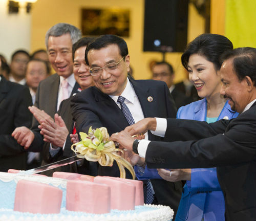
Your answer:
[[[73,74],[72,45],[80,38],[80,30],[66,23],[56,24],[46,33],[49,61],[56,73],[40,82],[34,105],[44,110],[52,118],[58,111],[62,100],[78,93],[79,85],[76,83]],[[31,107],[30,111],[33,113]],[[38,128],[42,120],[44,120],[44,116],[41,119],[33,118],[31,129],[17,127],[12,136],[25,149],[40,152],[44,141],[47,141],[42,137]],[[55,142],[52,143],[52,148],[58,147],[58,139],[56,138]]]

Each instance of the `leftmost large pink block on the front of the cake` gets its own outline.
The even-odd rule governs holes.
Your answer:
[[[48,184],[20,180],[16,186],[14,211],[59,213],[62,191]]]

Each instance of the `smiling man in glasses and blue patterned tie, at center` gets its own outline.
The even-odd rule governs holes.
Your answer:
[[[90,126],[104,126],[112,135],[146,117],[176,117],[176,107],[164,82],[127,78],[130,55],[122,38],[115,35],[99,36],[87,47],[85,59],[95,86],[72,98],[72,115],[78,132],[88,132]],[[160,138],[148,132],[145,139]],[[116,163],[112,167],[99,166],[98,174],[120,176]],[[132,178],[128,171],[126,178]],[[153,189],[151,184],[145,182],[144,195],[152,195],[148,191],[154,190],[154,198],[145,196],[145,203],[168,205],[177,210],[181,183],[164,180],[151,180],[151,183]]]

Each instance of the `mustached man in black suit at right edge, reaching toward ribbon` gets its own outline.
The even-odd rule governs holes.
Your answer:
[[[162,127],[160,123],[165,119],[148,118],[112,139],[145,157],[150,168],[217,167],[226,220],[255,220],[256,49],[234,49],[224,54],[223,59],[220,93],[229,100],[233,111],[240,113],[236,119],[210,124],[167,119],[167,127]],[[168,142],[138,142],[127,134],[148,129],[165,136]]]

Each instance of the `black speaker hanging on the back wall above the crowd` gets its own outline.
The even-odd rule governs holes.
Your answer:
[[[145,0],[143,51],[183,52],[188,0]]]

